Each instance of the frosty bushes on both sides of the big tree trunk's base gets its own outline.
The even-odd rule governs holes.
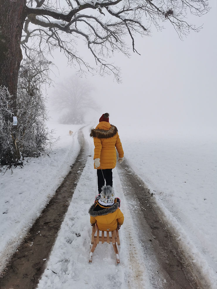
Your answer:
[[[49,154],[55,142],[53,131],[46,126],[46,98],[42,85],[50,83],[49,65],[43,57],[24,59],[21,63],[17,89],[17,126],[13,126],[12,98],[0,87],[0,165],[17,165],[25,157]],[[10,115],[10,117],[8,117]]]

